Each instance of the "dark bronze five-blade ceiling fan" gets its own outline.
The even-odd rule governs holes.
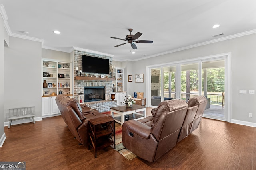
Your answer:
[[[111,37],[111,38],[114,38],[114,39],[120,39],[120,40],[124,40],[124,41],[128,41],[127,43],[130,43],[131,46],[132,46],[132,49],[137,49],[137,46],[134,44],[135,43],[148,43],[148,44],[152,44],[153,41],[149,41],[149,40],[137,40],[137,38],[139,38],[142,33],[140,32],[137,32],[135,35],[132,35],[132,28],[128,29],[130,31],[130,35],[126,35],[125,39],[121,39],[121,38],[116,38],[116,37]],[[126,43],[123,43],[123,44],[119,44],[119,45],[116,45],[114,47],[119,47],[120,45],[124,45]]]

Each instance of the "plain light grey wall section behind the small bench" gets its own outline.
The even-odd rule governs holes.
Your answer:
[[[35,106],[42,116],[40,42],[10,37],[4,47],[4,120],[10,108]],[[2,67],[1,67],[2,68]]]

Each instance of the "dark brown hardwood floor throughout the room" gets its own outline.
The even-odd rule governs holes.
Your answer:
[[[0,161],[25,161],[27,170],[256,169],[256,128],[212,119],[203,118],[198,129],[153,163],[128,161],[111,147],[94,158],[92,150],[78,145],[61,116],[4,130]]]

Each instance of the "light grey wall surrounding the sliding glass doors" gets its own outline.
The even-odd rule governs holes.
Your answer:
[[[256,123],[256,94],[239,94],[239,89],[256,90],[254,76],[256,63],[256,34],[246,35],[226,41],[220,41],[200,47],[194,47],[175,53],[152,57],[132,63],[128,72],[144,74],[144,83],[132,82],[132,92],[146,93],[146,66],[181,61],[197,57],[231,53],[231,114],[232,119]],[[248,113],[253,117],[249,118]]]

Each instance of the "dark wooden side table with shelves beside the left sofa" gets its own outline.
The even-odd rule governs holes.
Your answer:
[[[115,120],[111,117],[98,117],[88,120],[88,150],[94,149],[95,158],[97,150],[114,144],[116,149]]]

